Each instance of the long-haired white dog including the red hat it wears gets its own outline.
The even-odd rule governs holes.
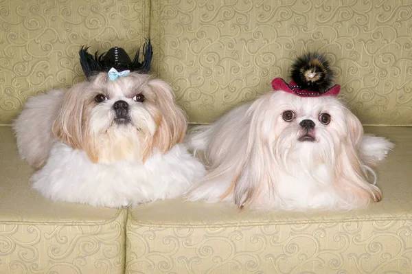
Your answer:
[[[208,162],[207,175],[190,190],[189,201],[345,210],[381,200],[371,168],[393,144],[363,135],[361,122],[336,99],[338,85],[310,86],[313,78],[324,80],[328,64],[323,56],[305,58],[321,60],[309,68],[297,65],[306,87],[277,78],[275,91],[188,136],[188,146],[204,150]]]

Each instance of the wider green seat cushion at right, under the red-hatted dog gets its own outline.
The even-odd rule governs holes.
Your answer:
[[[160,201],[128,209],[126,273],[412,273],[412,128],[378,167],[380,203],[352,212],[252,212]]]

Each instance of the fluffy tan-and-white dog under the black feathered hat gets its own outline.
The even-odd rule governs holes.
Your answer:
[[[126,74],[126,73],[124,73]],[[31,98],[16,119],[32,187],[55,201],[121,207],[185,192],[204,175],[183,144],[186,119],[165,82],[101,72]]]

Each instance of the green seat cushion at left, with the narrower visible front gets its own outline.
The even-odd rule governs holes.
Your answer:
[[[32,172],[0,126],[0,273],[124,273],[126,209],[49,201]]]

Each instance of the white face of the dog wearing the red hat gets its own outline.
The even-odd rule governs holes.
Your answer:
[[[268,136],[273,152],[284,159],[285,165],[287,158],[301,163],[332,163],[339,144],[354,141],[358,146],[356,142],[363,133],[361,123],[336,98],[301,98],[276,92],[270,100],[265,116],[274,119],[262,120],[262,130],[268,130],[263,135]]]

